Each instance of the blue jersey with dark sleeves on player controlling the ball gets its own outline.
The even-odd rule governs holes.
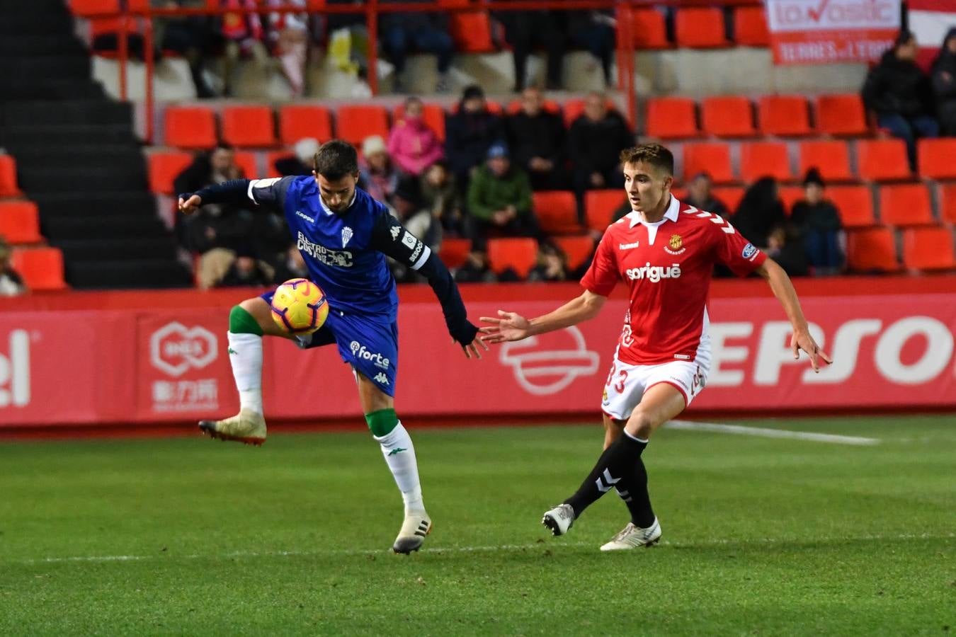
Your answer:
[[[336,214],[322,202],[312,177],[252,180],[249,196],[253,202],[282,209],[295,245],[330,308],[394,320],[399,297],[385,256],[418,269],[430,250],[384,204],[356,188],[349,208]]]

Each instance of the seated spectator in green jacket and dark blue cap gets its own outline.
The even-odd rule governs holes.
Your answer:
[[[468,186],[468,214],[475,224],[473,241],[482,248],[490,235],[533,237],[541,231],[532,212],[532,184],[528,173],[511,164],[508,148],[489,148],[488,162]]]

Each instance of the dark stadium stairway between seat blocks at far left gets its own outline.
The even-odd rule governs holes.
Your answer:
[[[191,287],[156,214],[129,103],[91,79],[63,0],[0,3],[0,147],[76,288]]]

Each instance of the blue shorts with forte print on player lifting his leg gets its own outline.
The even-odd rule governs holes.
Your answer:
[[[272,302],[273,292],[260,298]],[[329,308],[325,325],[312,334],[296,337],[303,350],[324,345],[338,346],[338,355],[365,376],[383,393],[395,397],[395,381],[399,372],[399,324],[387,317],[347,314]]]

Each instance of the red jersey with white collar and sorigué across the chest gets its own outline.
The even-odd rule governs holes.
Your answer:
[[[670,198],[663,220],[632,212],[608,226],[581,285],[607,296],[623,280],[630,308],[618,358],[630,365],[693,361],[707,335],[707,292],[714,264],[740,276],[767,255],[718,215]]]

